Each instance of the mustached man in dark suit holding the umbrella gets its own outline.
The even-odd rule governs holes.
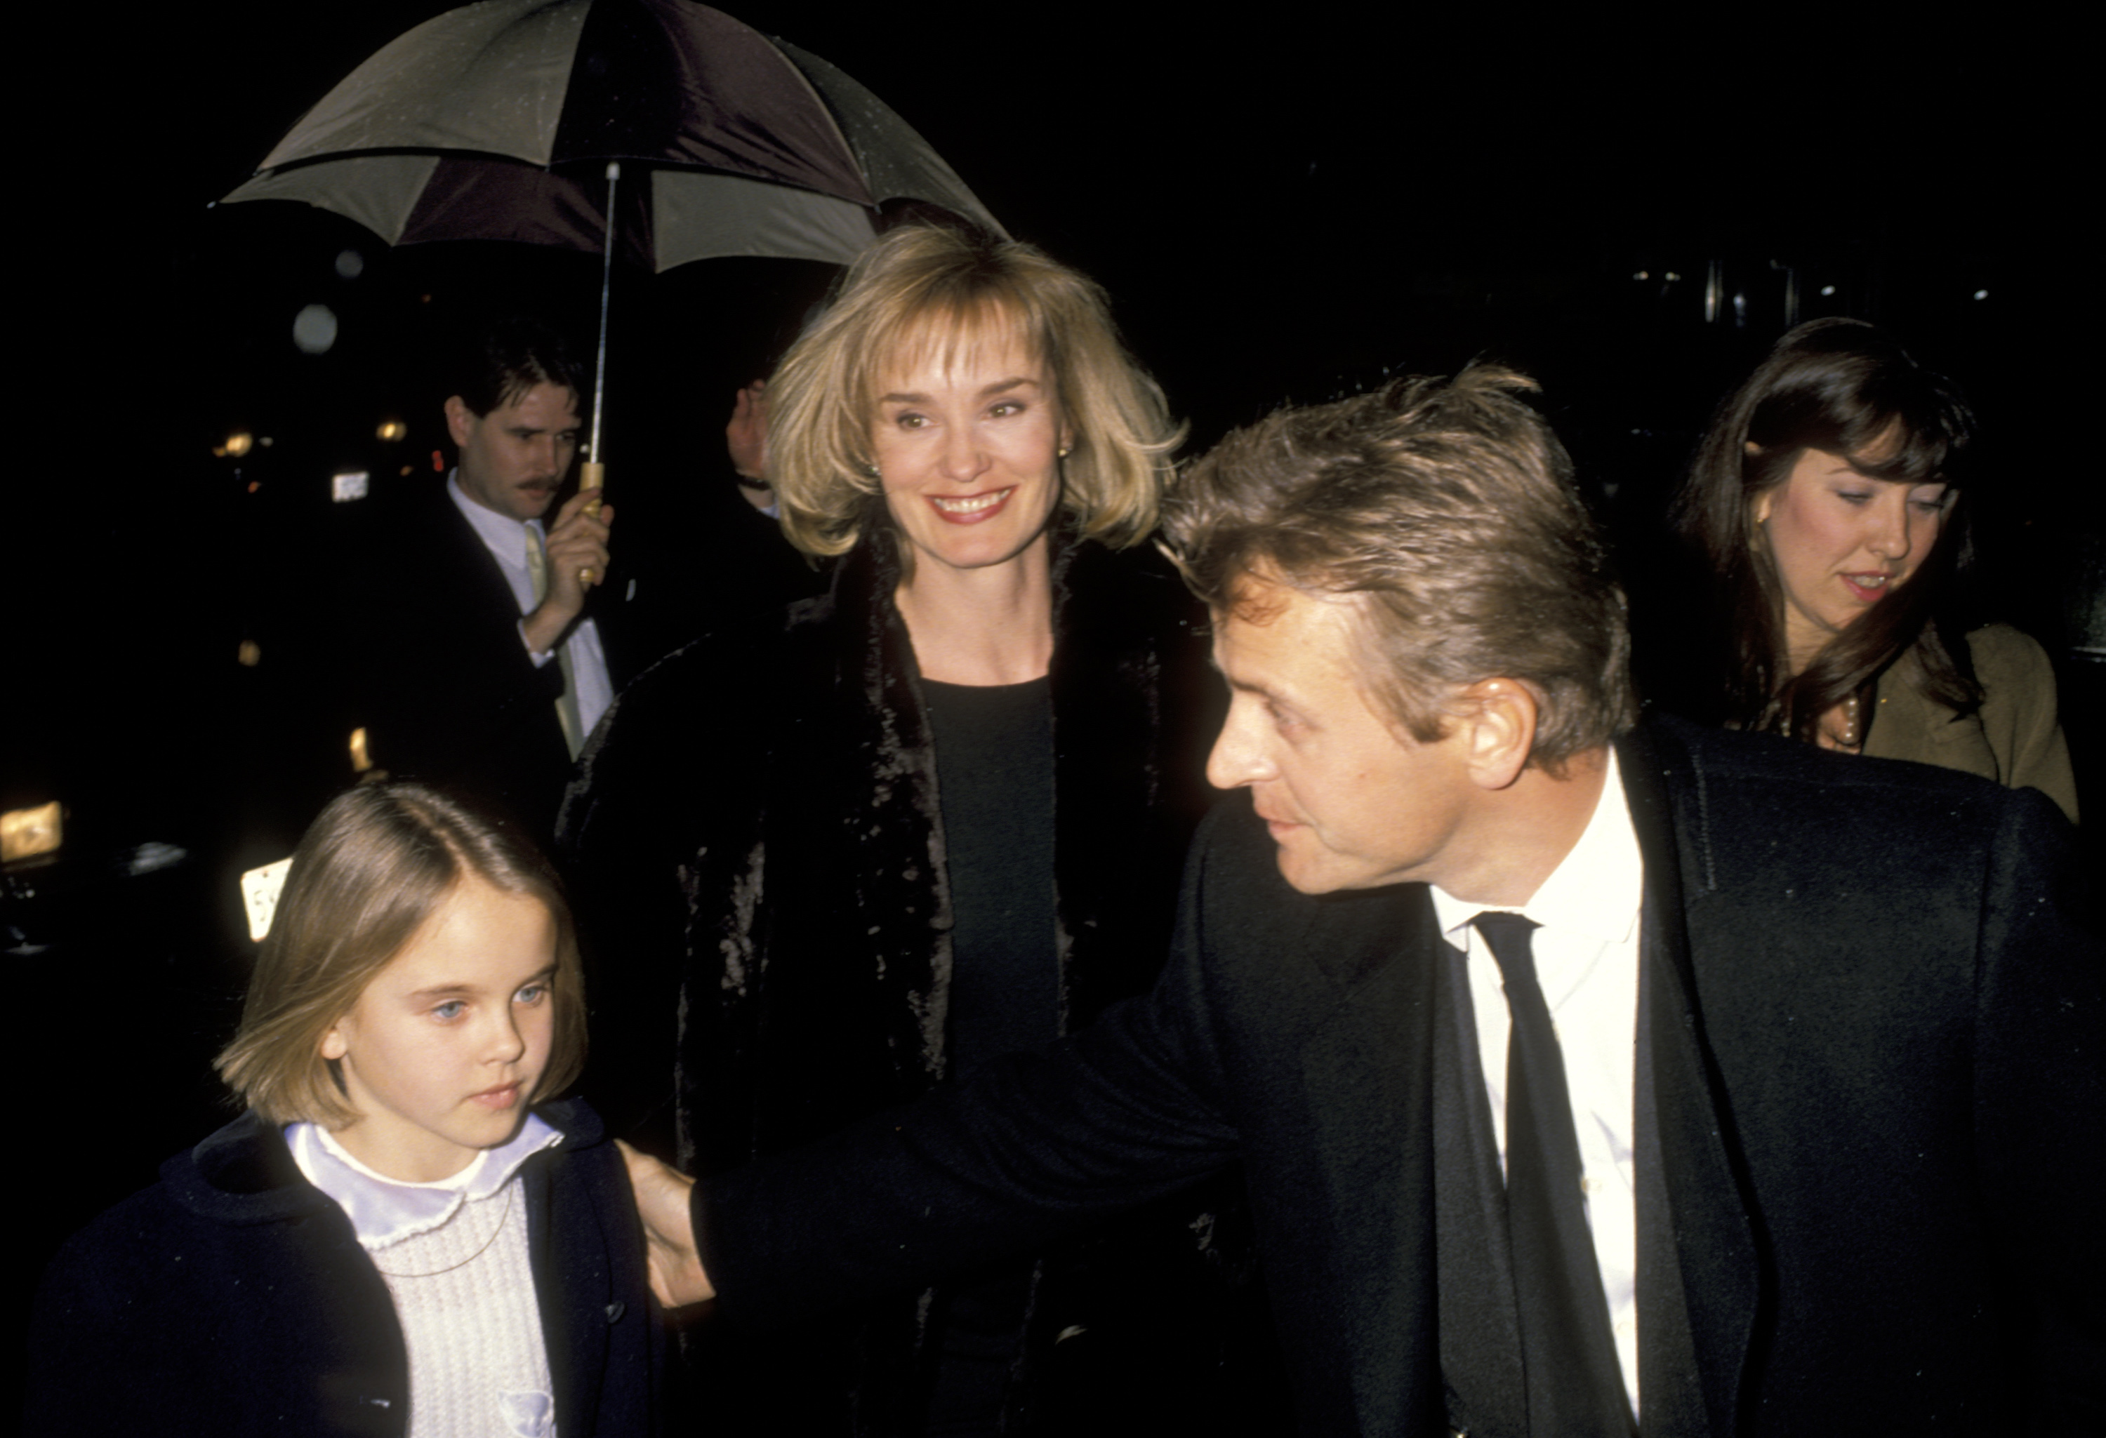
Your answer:
[[[581,408],[556,335],[497,324],[455,385],[459,467],[388,516],[369,571],[366,747],[394,775],[508,811],[545,844],[571,760],[613,701],[607,627],[634,585],[598,598],[615,512],[596,491],[548,518]]]

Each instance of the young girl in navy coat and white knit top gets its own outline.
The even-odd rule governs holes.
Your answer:
[[[307,830],[219,1074],[249,1112],[55,1259],[29,1430],[657,1432],[663,1333],[581,1103],[571,912],[415,783]]]

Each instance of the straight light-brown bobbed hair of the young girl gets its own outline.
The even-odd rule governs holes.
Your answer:
[[[470,876],[539,899],[556,920],[556,1034],[529,1103],[569,1089],[585,1067],[585,979],[556,872],[520,836],[421,783],[362,783],[307,825],[240,1030],[217,1059],[227,1086],[274,1124],[356,1122],[322,1036]]]

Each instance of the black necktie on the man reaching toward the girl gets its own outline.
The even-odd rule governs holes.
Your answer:
[[[1529,1432],[1628,1434],[1594,1238],[1580,1198],[1580,1139],[1550,1008],[1535,981],[1533,920],[1478,914],[1514,1017],[1506,1046],[1506,1230],[1529,1387]]]

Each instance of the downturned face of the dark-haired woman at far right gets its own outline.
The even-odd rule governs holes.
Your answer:
[[[1836,634],[1908,581],[1938,543],[1948,486],[1881,480],[1824,448],[1754,497],[1784,590],[1784,638],[1801,672]]]

